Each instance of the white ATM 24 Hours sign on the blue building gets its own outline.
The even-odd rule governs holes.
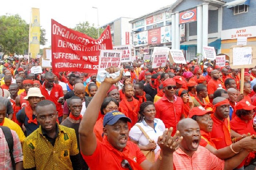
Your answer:
[[[238,37],[256,37],[256,26],[221,31],[221,40],[237,39]]]

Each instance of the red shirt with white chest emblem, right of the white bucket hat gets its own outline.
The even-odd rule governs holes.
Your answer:
[[[53,87],[52,87],[51,93],[49,95],[48,91],[45,88],[45,83],[44,83],[40,87],[40,90],[41,90],[42,95],[45,97],[45,99],[54,102],[54,104],[56,105],[56,109],[58,111],[58,116],[59,117],[63,116],[63,108],[61,106],[61,103],[58,102],[58,99],[60,97],[64,96],[62,87],[58,84],[53,83]]]

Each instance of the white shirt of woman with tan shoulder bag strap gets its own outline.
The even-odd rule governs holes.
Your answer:
[[[165,125],[163,121],[157,118],[154,119],[154,129],[148,126],[144,119],[142,122],[138,122],[135,125],[140,125],[140,127],[142,127],[143,130],[148,134],[149,138],[154,140],[156,144],[158,137],[162,136],[165,130]],[[146,138],[146,136],[142,133],[140,128],[135,125],[131,127],[129,137],[135,141],[138,141],[138,144],[141,146],[149,144],[149,141]],[[154,153],[156,154],[159,149],[160,147],[157,144],[157,148],[154,150]]]

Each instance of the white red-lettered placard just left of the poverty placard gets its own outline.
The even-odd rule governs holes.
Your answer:
[[[166,60],[169,54],[170,48],[154,47],[152,54],[152,68],[159,68],[166,66]]]

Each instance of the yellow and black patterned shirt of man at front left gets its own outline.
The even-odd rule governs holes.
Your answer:
[[[73,170],[70,156],[79,154],[75,130],[57,125],[54,146],[43,136],[41,126],[23,144],[23,167],[37,170]]]

